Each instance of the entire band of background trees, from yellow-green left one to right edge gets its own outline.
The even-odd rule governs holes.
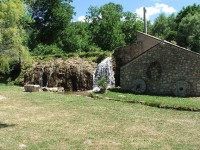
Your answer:
[[[108,3],[88,9],[85,22],[73,22],[72,0],[0,1],[0,73],[27,62],[29,54],[63,55],[71,52],[112,51],[136,41],[143,21]],[[177,15],[160,14],[149,33],[193,51],[200,51],[200,5]]]

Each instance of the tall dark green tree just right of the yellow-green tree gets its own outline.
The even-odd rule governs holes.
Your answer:
[[[71,2],[72,0],[29,1],[34,20],[31,37],[37,41],[32,47],[38,43],[51,45],[58,42],[74,14]]]

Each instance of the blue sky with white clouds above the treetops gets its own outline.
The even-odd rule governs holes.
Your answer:
[[[76,12],[73,21],[84,21],[90,6],[100,7],[109,2],[120,4],[124,12],[131,11],[137,13],[139,17],[143,17],[143,7],[146,7],[147,18],[151,22],[154,22],[160,13],[177,14],[183,7],[194,3],[200,4],[200,0],[73,0],[71,5],[74,6]]]

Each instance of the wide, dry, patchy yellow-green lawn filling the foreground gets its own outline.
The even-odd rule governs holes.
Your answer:
[[[200,112],[77,95],[26,93],[5,85],[0,85],[0,95],[3,150],[200,148]],[[146,97],[137,95],[135,99]],[[191,101],[200,103],[197,98]]]

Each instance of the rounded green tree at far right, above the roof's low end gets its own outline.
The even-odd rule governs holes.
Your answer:
[[[199,32],[200,32],[200,5],[192,5],[183,8],[176,17],[177,44],[199,52]]]

